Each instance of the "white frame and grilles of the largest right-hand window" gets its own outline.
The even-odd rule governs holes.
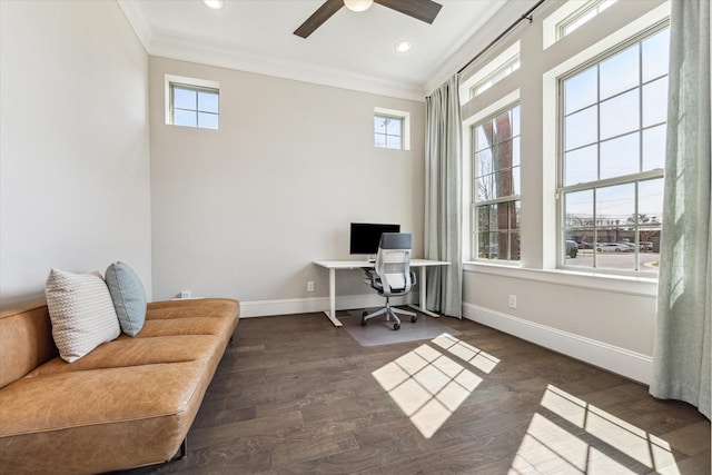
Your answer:
[[[597,2],[601,3],[601,2]],[[607,178],[601,178],[600,176],[597,177],[597,179],[595,180],[590,180],[586,182],[577,182],[577,184],[573,184],[573,185],[565,185],[565,174],[566,174],[566,164],[565,164],[565,152],[567,151],[565,149],[565,100],[564,100],[564,82],[567,79],[571,79],[575,76],[577,76],[578,73],[586,71],[589,69],[591,69],[592,67],[600,67],[601,63],[603,63],[604,61],[606,61],[607,59],[611,59],[613,57],[615,57],[616,55],[619,55],[620,52],[633,47],[633,46],[639,46],[639,48],[641,48],[641,44],[643,43],[643,41],[645,41],[649,38],[652,38],[653,36],[664,31],[665,29],[668,29],[670,27],[670,18],[665,18],[661,21],[654,22],[653,24],[650,24],[647,28],[636,32],[635,34],[629,37],[627,39],[625,39],[624,41],[620,41],[616,44],[612,46],[611,48],[600,52],[599,55],[590,58],[587,61],[578,65],[577,67],[562,73],[561,76],[558,76],[556,78],[556,117],[557,117],[557,140],[556,140],[556,188],[555,188],[555,198],[556,198],[556,227],[557,227],[557,232],[556,232],[556,248],[557,248],[557,253],[556,253],[556,267],[560,269],[564,269],[564,270],[577,270],[577,271],[592,271],[593,274],[596,275],[603,275],[603,276],[636,276],[636,277],[644,277],[644,278],[657,278],[657,271],[654,270],[643,270],[641,268],[641,263],[640,263],[640,251],[641,251],[641,228],[640,228],[640,221],[637,222],[633,222],[631,226],[634,227],[634,241],[631,243],[633,244],[633,253],[634,253],[634,265],[633,268],[626,268],[626,269],[619,269],[619,268],[613,268],[613,267],[599,267],[597,266],[597,256],[599,253],[595,249],[595,244],[599,241],[597,236],[599,236],[599,230],[605,228],[604,225],[599,226],[599,219],[601,219],[601,217],[597,215],[597,209],[596,209],[596,204],[597,204],[597,197],[596,194],[599,192],[599,190],[601,189],[605,189],[605,188],[610,188],[610,187],[614,187],[614,186],[623,186],[623,185],[633,185],[635,191],[634,191],[634,202],[633,202],[633,209],[634,209],[634,214],[632,216],[635,217],[640,217],[641,214],[640,211],[640,184],[644,184],[646,181],[651,181],[651,180],[657,180],[657,179],[664,179],[664,166],[663,168],[655,168],[655,169],[650,169],[650,170],[642,170],[642,171],[637,171],[637,172],[632,172],[632,174],[625,174],[625,175],[619,175],[619,176],[614,176],[614,177],[607,177]],[[640,50],[639,50],[639,55],[640,55]],[[596,107],[600,109],[601,103],[605,102],[606,100],[611,100],[612,98],[615,98],[617,96],[622,96],[624,93],[627,93],[632,90],[641,90],[641,96],[642,96],[642,90],[645,87],[645,85],[650,85],[653,83],[662,78],[668,78],[669,77],[669,71],[666,75],[664,76],[657,76],[653,79],[649,79],[647,81],[644,81],[641,78],[641,73],[642,73],[642,63],[639,63],[639,71],[637,71],[637,76],[639,76],[639,82],[636,83],[636,86],[625,89],[624,91],[619,91],[615,95],[612,95],[611,97],[606,97],[606,98],[601,98],[600,93],[596,92]],[[600,75],[600,71],[596,70],[596,75]],[[600,87],[600,82],[599,80],[596,80],[596,85],[597,87]],[[591,106],[586,106],[591,107]],[[585,108],[584,108],[585,109]],[[581,109],[583,110],[583,109]],[[577,110],[580,111],[580,110]],[[571,112],[572,113],[576,113],[577,111]],[[601,123],[601,116],[600,116],[600,110],[597,110],[597,122],[599,125]],[[616,138],[621,138],[621,137],[625,137],[627,135],[631,133],[640,133],[640,138],[639,138],[639,142],[642,142],[643,138],[643,132],[646,129],[652,129],[654,127],[660,127],[662,125],[665,125],[666,121],[663,122],[656,122],[654,125],[649,125],[649,126],[644,126],[643,125],[643,101],[641,100],[640,105],[639,105],[639,111],[637,111],[639,116],[639,126],[634,131],[625,131],[624,133],[621,135],[614,135],[611,137],[606,137],[605,139],[601,138],[601,129],[599,127],[599,131],[597,131],[597,137],[596,137],[596,141],[593,142],[596,145],[597,147],[597,152],[596,152],[596,167],[599,169],[599,174],[600,174],[600,169],[601,169],[601,145],[605,144],[606,141],[611,141],[611,140],[615,140]],[[593,145],[591,144],[591,145]],[[590,145],[586,146],[582,146],[581,148],[585,148],[589,147]],[[576,149],[576,147],[574,147],[573,149]],[[570,150],[568,150],[570,151]],[[641,148],[639,150],[639,160],[643,158],[643,149]],[[592,217],[592,221],[593,221],[593,238],[592,238],[592,254],[593,254],[593,263],[591,267],[583,267],[583,266],[575,266],[572,264],[566,264],[566,248],[565,248],[565,241],[567,240],[566,237],[566,232],[567,232],[567,227],[566,227],[566,220],[567,220],[567,216],[566,216],[566,202],[564,197],[566,196],[566,194],[570,192],[576,192],[576,191],[586,191],[586,190],[591,190],[592,195],[593,195],[593,199],[592,199],[592,205],[593,205],[593,217]],[[662,209],[661,209],[661,214],[662,214]],[[660,221],[659,224],[662,222],[662,215],[660,216]],[[612,225],[609,225],[612,226]],[[616,224],[617,227],[617,224]]]

